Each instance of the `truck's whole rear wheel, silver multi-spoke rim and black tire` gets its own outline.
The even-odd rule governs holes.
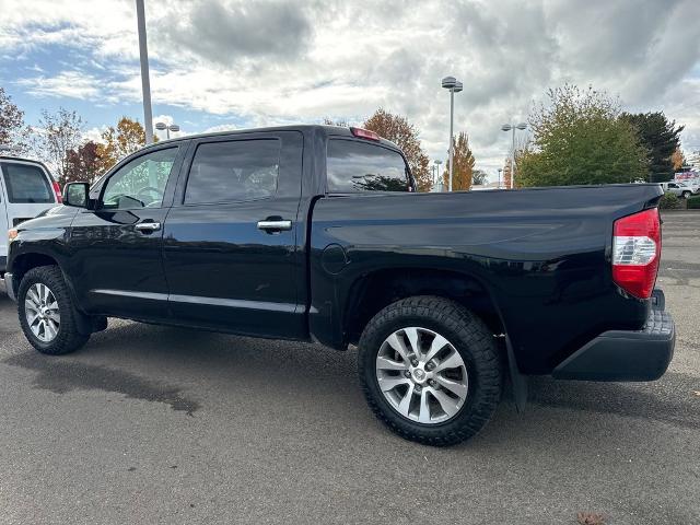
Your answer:
[[[368,404],[405,439],[428,445],[467,440],[501,399],[493,335],[459,304],[415,296],[388,305],[364,329],[359,371]]]

